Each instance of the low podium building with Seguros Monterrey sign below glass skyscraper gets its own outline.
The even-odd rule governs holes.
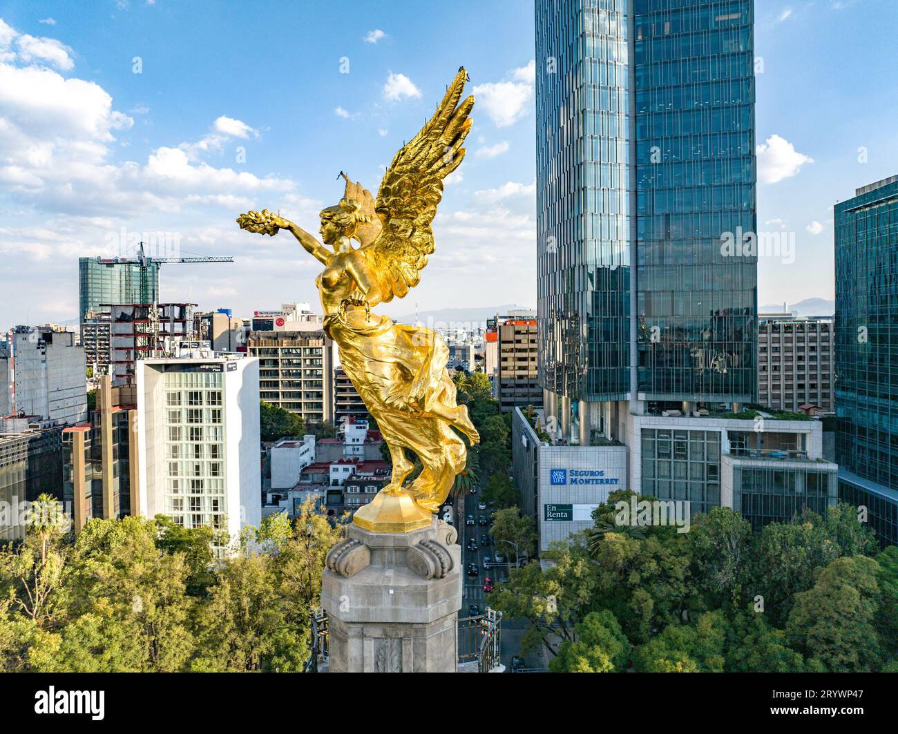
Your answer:
[[[823,459],[823,424],[804,416],[634,416],[626,443],[578,446],[545,428],[542,411],[515,409],[515,483],[541,550],[593,527],[592,511],[618,489],[689,502],[691,515],[729,507],[755,530],[805,510],[825,514],[837,501],[839,467]]]

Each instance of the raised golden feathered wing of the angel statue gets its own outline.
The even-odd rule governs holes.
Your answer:
[[[462,67],[434,116],[396,153],[381,181],[374,211],[383,229],[362,251],[376,273],[382,301],[409,293],[434,251],[430,225],[443,197],[443,179],[462,162],[462,143],[471,130],[474,98],[458,103],[466,79]]]

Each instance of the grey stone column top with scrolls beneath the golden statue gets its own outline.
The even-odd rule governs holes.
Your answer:
[[[462,550],[429,528],[374,533],[355,524],[330,549],[321,583],[331,673],[454,673]]]

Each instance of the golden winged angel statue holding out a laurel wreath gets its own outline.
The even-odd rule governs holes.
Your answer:
[[[455,403],[443,339],[427,328],[395,324],[371,312],[378,303],[409,293],[434,251],[430,225],[443,179],[462,162],[462,143],[471,130],[474,98],[459,104],[466,78],[459,69],[433,118],[393,157],[376,200],[342,174],[344,197],[321,211],[323,244],[268,210],[237,219],[249,232],[291,232],[324,266],[316,280],[324,329],[339,346],[340,363],[392,457],[390,484],[355,515],[357,525],[369,530],[429,526],[465,466],[465,443],[450,426],[472,443],[480,440],[467,407]],[[423,467],[408,486],[403,483],[412,464],[405,449],[414,451]]]

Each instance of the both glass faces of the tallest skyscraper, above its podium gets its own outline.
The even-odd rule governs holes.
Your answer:
[[[537,0],[544,388],[753,400],[753,56],[752,0]]]

